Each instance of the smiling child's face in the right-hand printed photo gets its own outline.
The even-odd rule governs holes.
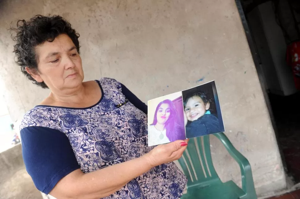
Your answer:
[[[184,108],[187,120],[192,122],[202,117],[205,114],[205,112],[209,109],[209,105],[209,102],[204,104],[201,97],[198,96],[194,96],[188,99]]]

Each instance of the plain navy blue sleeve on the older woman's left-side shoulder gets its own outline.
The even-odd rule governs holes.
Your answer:
[[[67,136],[39,126],[20,131],[23,160],[36,188],[48,194],[63,177],[79,169]]]

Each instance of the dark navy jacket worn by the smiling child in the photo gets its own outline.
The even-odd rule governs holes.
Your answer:
[[[186,125],[186,138],[221,132],[219,120],[212,114],[205,114]]]

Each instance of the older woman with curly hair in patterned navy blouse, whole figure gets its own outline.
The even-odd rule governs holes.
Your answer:
[[[20,126],[37,189],[56,198],[181,197],[187,180],[172,161],[187,140],[147,147],[147,106],[114,79],[83,82],[79,34],[62,17],[37,15],[14,30],[21,71],[50,89]]]

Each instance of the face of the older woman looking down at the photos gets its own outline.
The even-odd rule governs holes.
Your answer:
[[[53,42],[36,46],[35,52],[38,72],[30,74],[36,81],[44,81],[52,91],[72,89],[82,83],[81,58],[68,35],[58,35]]]

